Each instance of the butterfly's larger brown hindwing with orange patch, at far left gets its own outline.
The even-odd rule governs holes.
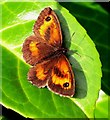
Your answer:
[[[30,36],[25,40],[22,52],[25,61],[30,65],[35,65],[51,55],[54,52],[54,49],[44,42],[42,38]]]

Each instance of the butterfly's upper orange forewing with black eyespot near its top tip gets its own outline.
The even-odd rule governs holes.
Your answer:
[[[62,33],[59,20],[55,12],[50,8],[45,8],[39,15],[34,25],[36,36],[42,37],[46,42],[54,47],[61,47]]]

